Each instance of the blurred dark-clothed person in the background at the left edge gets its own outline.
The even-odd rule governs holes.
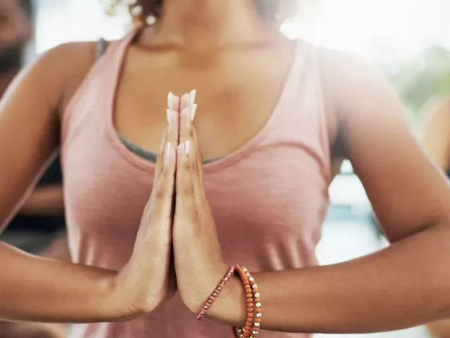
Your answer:
[[[23,68],[25,49],[33,33],[31,0],[0,0],[0,98]],[[20,151],[20,146],[16,146]],[[8,165],[8,161],[1,163]],[[0,239],[42,256],[68,259],[63,215],[63,189],[56,158]],[[64,337],[63,333],[60,325],[0,322],[1,338],[56,338]]]

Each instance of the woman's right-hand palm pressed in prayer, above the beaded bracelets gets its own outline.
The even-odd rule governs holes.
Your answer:
[[[179,292],[186,306],[198,313],[229,267],[222,261],[216,225],[205,196],[203,161],[189,102],[186,95],[181,99],[173,237]]]

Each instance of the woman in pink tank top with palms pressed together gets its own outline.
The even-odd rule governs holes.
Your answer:
[[[115,322],[76,325],[72,337],[230,337],[247,314],[238,277],[209,319],[195,315],[236,263],[255,272],[264,337],[448,317],[450,187],[384,78],[285,39],[276,23],[289,1],[140,4],[155,25],[98,62],[96,44],[49,51],[2,101],[0,219],[60,144],[75,264],[1,246],[1,317]],[[167,96],[193,88],[198,106],[195,92]],[[340,158],[392,246],[314,267]]]

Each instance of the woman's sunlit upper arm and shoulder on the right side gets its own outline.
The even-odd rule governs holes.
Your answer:
[[[390,241],[448,218],[446,177],[420,149],[389,82],[354,56],[324,51],[320,58],[345,155]]]

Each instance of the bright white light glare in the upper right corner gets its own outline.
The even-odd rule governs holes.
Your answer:
[[[313,11],[283,25],[286,35],[373,61],[403,60],[433,44],[450,48],[450,1],[318,0],[310,6]]]

